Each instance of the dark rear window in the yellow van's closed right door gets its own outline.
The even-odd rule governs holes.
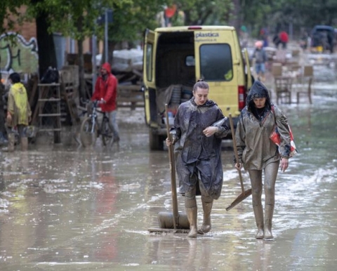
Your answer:
[[[230,81],[233,78],[232,53],[229,44],[200,46],[201,77],[206,81]]]

